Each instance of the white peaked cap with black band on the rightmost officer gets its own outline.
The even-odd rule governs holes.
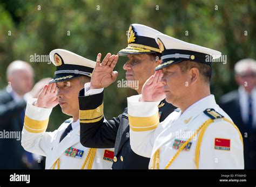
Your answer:
[[[157,34],[156,42],[159,46],[162,60],[161,64],[156,67],[156,71],[185,60],[205,63],[211,66],[212,60],[221,56],[219,51],[190,44],[165,34]]]

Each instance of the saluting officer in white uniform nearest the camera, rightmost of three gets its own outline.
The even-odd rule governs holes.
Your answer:
[[[210,92],[221,53],[164,34],[156,41],[162,62],[142,95],[127,99],[132,150],[150,157],[150,169],[244,169],[241,133]],[[165,97],[178,109],[159,124]]]

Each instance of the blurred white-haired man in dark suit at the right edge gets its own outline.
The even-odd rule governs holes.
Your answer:
[[[242,59],[235,66],[238,90],[220,98],[220,107],[244,137],[245,169],[256,169],[256,61]]]

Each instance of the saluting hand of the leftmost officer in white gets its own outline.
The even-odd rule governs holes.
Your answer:
[[[39,93],[35,106],[52,109],[58,104],[56,83],[45,84]]]

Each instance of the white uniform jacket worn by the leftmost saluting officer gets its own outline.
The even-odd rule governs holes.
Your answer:
[[[80,143],[79,120],[66,120],[53,132],[45,132],[52,109],[26,106],[22,146],[31,153],[46,156],[45,169],[111,169],[114,149],[86,148]],[[73,130],[59,142],[66,127]]]

